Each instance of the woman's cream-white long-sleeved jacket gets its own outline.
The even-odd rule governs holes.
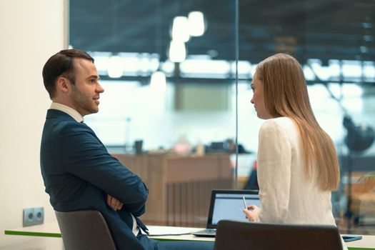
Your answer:
[[[262,208],[258,221],[336,225],[331,192],[307,181],[299,132],[291,119],[264,122],[259,131],[258,181]]]

